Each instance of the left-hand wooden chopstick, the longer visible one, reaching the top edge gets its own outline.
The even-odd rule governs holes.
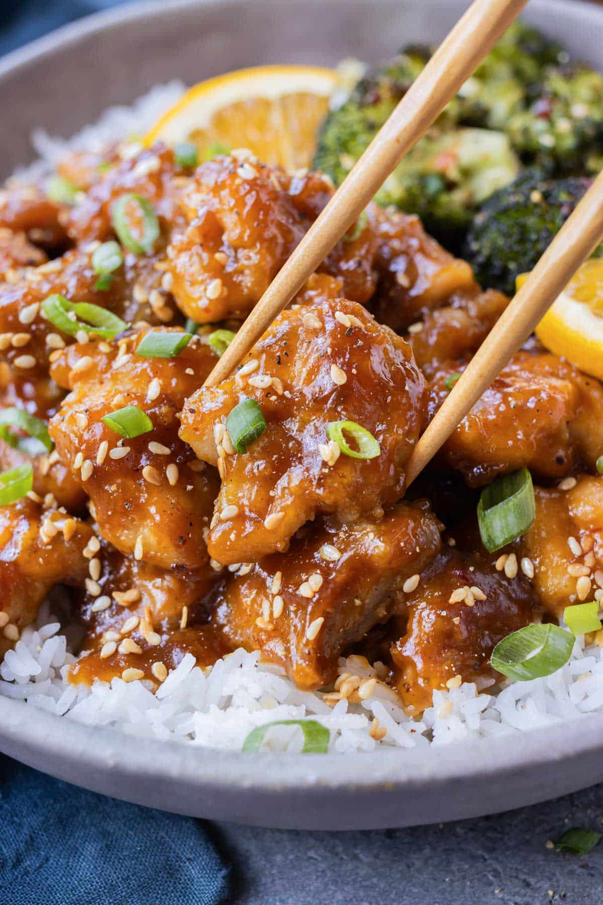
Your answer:
[[[391,171],[438,118],[526,2],[475,0],[466,10],[250,312],[204,386],[215,386],[231,374],[358,219]]]

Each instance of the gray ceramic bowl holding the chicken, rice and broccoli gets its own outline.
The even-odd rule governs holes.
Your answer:
[[[152,84],[256,63],[378,61],[441,38],[459,0],[206,0],[129,5],[0,61],[5,175],[42,125],[70,135]],[[526,18],[603,68],[603,9],[533,0]],[[496,742],[325,757],[242,755],[139,741],[0,698],[0,749],[142,805],[296,829],[369,829],[492,814],[603,780],[603,716]]]

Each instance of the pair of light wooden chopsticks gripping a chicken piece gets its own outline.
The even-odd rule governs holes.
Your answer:
[[[467,9],[250,312],[205,386],[215,386],[231,374],[352,226],[402,157],[438,118],[526,2],[475,0]],[[419,439],[407,465],[407,487],[523,345],[601,240],[603,173],[557,233]]]

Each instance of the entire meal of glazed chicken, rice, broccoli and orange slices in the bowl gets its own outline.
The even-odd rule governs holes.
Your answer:
[[[204,386],[432,50],[34,135],[0,195],[0,695],[294,754],[603,711],[598,252],[405,475],[603,163],[598,71],[513,24]]]

